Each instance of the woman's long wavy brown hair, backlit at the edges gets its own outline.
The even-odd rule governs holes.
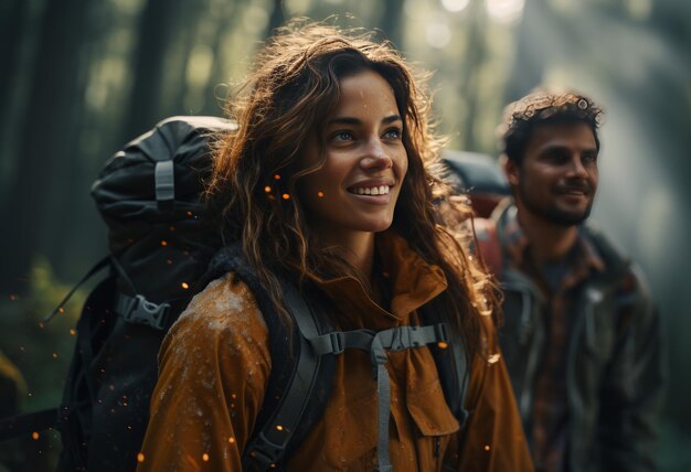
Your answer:
[[[421,88],[427,76],[414,73],[390,43],[374,42],[372,34],[294,22],[268,41],[244,94],[227,104],[238,128],[217,146],[208,189],[211,214],[224,240],[242,242],[249,264],[286,319],[278,277],[301,283],[307,275],[358,276],[339,254],[313,245],[297,183],[315,170],[301,168],[299,159],[310,138],[317,138],[320,163],[326,160],[322,130],[338,105],[339,82],[364,71],[380,74],[391,85],[404,121],[408,170],[392,230],[444,270],[448,290],[442,302],[448,321],[472,343],[478,339],[470,334],[478,330],[478,313],[492,310],[488,302],[493,300],[492,291],[487,276],[438,224],[434,201],[447,191],[428,171],[443,142],[429,122],[429,95]],[[456,212],[463,217],[470,214],[463,206]]]

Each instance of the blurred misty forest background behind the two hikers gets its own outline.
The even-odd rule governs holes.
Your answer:
[[[691,470],[685,0],[0,2],[0,371],[20,382],[17,408],[60,399],[84,290],[54,322],[41,320],[107,251],[89,197],[105,160],[164,117],[221,115],[276,26],[333,14],[379,29],[434,72],[451,148],[497,155],[503,106],[539,84],[604,105],[592,219],[650,279],[670,369],[658,462]],[[0,398],[0,415],[13,407]],[[0,457],[11,462],[18,443],[31,451],[23,470],[49,468],[59,448],[53,431],[6,441]]]

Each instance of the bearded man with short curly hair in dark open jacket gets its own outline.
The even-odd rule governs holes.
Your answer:
[[[501,255],[500,343],[536,471],[655,469],[659,318],[638,269],[583,224],[600,115],[572,92],[511,104],[502,141],[513,199],[493,212],[490,243],[478,235],[482,251]]]

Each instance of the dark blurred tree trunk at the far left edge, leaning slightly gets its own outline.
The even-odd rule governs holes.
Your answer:
[[[19,131],[17,174],[10,199],[3,200],[6,248],[0,281],[9,292],[24,292],[26,271],[41,238],[50,237],[46,217],[60,203],[68,162],[75,155],[74,136],[83,109],[83,47],[87,0],[49,1],[41,17],[38,61],[24,104],[29,111]],[[51,207],[47,203],[51,202]]]

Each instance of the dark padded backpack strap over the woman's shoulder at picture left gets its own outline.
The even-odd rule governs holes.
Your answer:
[[[315,302],[287,281],[281,281],[284,301],[293,326],[288,333],[262,287],[256,273],[246,262],[240,245],[219,251],[212,259],[205,279],[232,271],[253,291],[269,330],[272,373],[264,405],[259,411],[253,437],[243,453],[243,470],[280,470],[288,458],[321,417],[331,394],[336,361],[319,356],[308,340],[330,331],[315,317]],[[286,355],[286,345],[290,352]]]

